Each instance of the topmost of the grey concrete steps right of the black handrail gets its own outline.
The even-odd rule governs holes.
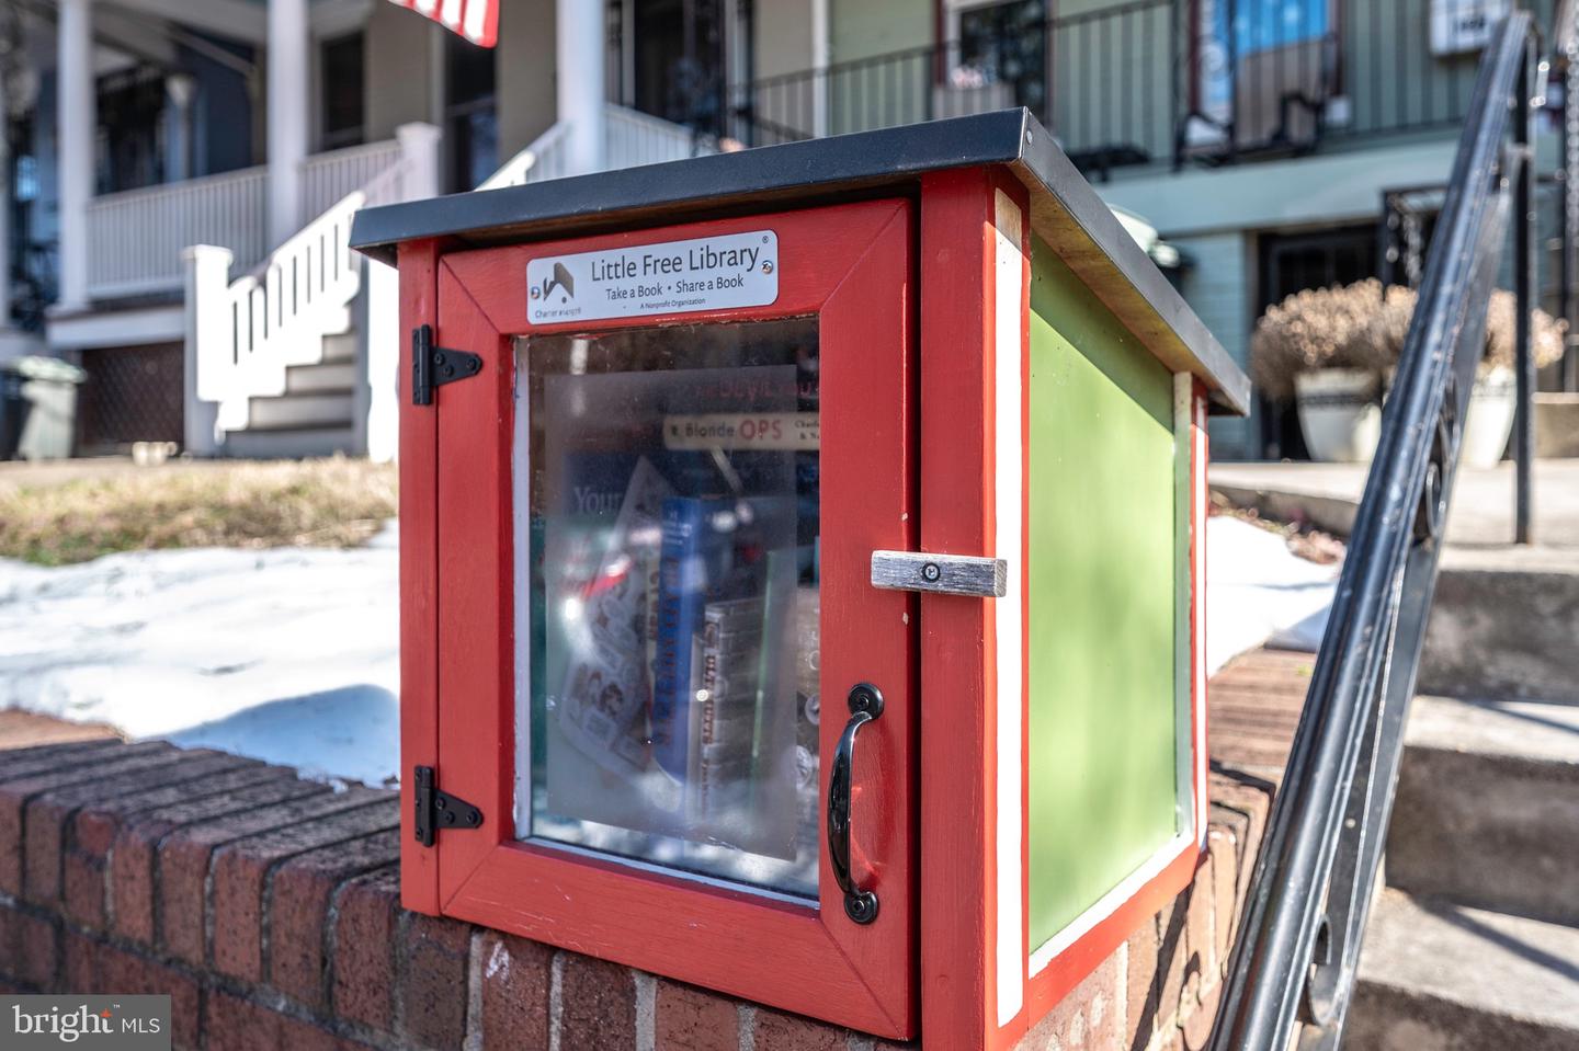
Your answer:
[[[1579,551],[1450,546],[1418,690],[1579,704]]]

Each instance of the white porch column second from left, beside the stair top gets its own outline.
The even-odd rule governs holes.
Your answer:
[[[306,0],[268,0],[268,243],[302,229],[308,139]]]

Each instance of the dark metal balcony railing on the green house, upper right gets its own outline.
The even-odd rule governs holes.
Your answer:
[[[1549,24],[1551,0],[1527,6]],[[769,145],[1028,106],[1097,175],[1282,156],[1461,125],[1484,11],[1484,0],[1097,3],[736,85],[728,134]]]

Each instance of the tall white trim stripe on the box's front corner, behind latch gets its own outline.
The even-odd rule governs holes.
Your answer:
[[[1025,1005],[1025,871],[1022,764],[1025,723],[1025,252],[1023,215],[1009,194],[993,196],[993,371],[996,535],[993,551],[1007,560],[1004,595],[993,603],[998,671],[998,1026]]]

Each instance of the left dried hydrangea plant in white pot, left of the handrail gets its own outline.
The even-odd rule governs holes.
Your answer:
[[[1371,338],[1382,286],[1307,289],[1266,309],[1251,336],[1251,377],[1293,401],[1312,459],[1363,462],[1382,436],[1385,360]]]

